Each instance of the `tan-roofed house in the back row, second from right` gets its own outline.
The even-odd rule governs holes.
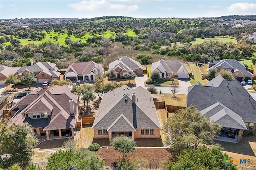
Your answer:
[[[177,75],[178,78],[188,79],[189,72],[180,61],[160,59],[156,63],[152,63],[151,73],[158,71],[160,78],[168,79],[172,75]]]

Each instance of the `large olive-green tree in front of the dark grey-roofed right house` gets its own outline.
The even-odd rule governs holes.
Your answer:
[[[170,150],[178,155],[187,148],[196,149],[199,144],[215,144],[220,125],[202,116],[194,107],[178,111],[164,123],[165,141],[170,144]]]

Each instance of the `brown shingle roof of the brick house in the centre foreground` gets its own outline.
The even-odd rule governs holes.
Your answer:
[[[135,103],[132,103],[133,93]],[[104,94],[92,128],[132,131],[132,128],[161,128],[161,125],[151,93],[142,87],[131,89],[123,85]]]

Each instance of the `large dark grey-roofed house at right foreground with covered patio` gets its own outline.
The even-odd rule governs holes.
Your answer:
[[[256,133],[256,102],[236,80],[225,80],[218,75],[207,86],[197,84],[188,87],[187,106],[190,105],[220,124],[222,130],[236,132],[233,136],[222,134],[223,137],[234,137],[235,142],[240,143],[244,130]]]

